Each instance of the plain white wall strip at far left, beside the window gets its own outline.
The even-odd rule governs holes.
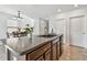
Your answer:
[[[7,20],[9,15],[0,12],[0,39],[7,37]]]

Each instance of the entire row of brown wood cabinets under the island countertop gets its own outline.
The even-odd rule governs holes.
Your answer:
[[[26,61],[57,61],[63,52],[61,39],[47,42],[32,53],[26,54]]]

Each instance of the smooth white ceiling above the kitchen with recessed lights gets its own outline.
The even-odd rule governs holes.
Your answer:
[[[48,18],[50,15],[61,13],[57,12],[57,9],[61,9],[62,12],[72,11],[79,8],[86,8],[86,4],[74,7],[74,4],[6,4],[8,8],[13,10],[20,10],[23,14],[31,18]]]

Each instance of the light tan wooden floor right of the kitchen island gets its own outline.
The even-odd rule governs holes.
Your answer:
[[[87,61],[87,48],[64,45],[59,61]]]

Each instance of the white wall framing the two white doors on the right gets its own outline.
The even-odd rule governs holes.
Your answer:
[[[85,15],[85,25],[84,25],[84,32],[85,32],[85,41],[84,41],[84,47],[87,47],[87,9],[78,9],[69,12],[64,13],[57,13],[53,17],[50,17],[50,28],[55,26],[55,20],[65,19],[66,20],[66,44],[69,44],[69,18],[73,17],[79,17]],[[55,30],[55,28],[54,28]],[[51,29],[50,29],[51,31]]]

